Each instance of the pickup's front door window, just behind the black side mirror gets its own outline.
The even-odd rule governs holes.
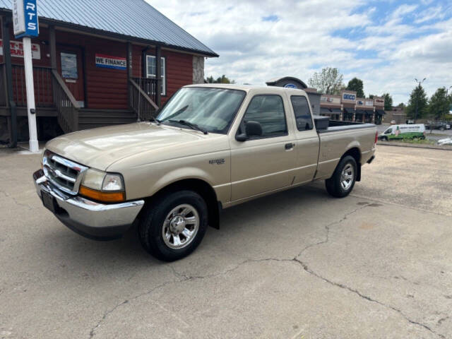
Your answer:
[[[244,122],[256,121],[261,124],[262,137],[285,136],[287,124],[283,98],[279,95],[256,95],[249,102]]]

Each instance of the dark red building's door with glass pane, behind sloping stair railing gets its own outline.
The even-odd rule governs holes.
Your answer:
[[[58,73],[76,98],[85,107],[83,50],[80,47],[57,46]]]

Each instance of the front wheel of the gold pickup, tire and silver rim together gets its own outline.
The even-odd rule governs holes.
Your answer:
[[[162,261],[175,261],[193,252],[208,225],[206,202],[194,191],[166,194],[143,211],[138,236],[146,251]]]

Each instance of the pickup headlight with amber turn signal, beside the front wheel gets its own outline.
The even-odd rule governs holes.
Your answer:
[[[107,203],[126,200],[121,174],[87,169],[80,186],[80,194],[87,198]]]

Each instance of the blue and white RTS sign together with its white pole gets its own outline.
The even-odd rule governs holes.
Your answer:
[[[30,151],[39,152],[36,129],[35,86],[33,84],[33,62],[30,37],[39,35],[37,22],[37,0],[13,0],[13,25],[16,39],[23,40],[23,66],[25,68],[25,86],[27,89],[28,132],[30,133]]]

